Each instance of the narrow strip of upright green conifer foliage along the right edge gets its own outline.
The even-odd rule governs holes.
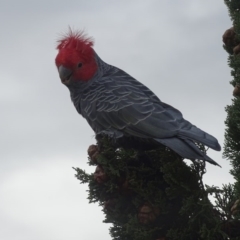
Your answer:
[[[229,15],[233,21],[234,27],[234,42],[235,45],[240,42],[240,2],[239,0],[225,0],[229,10]],[[227,50],[229,47],[224,46]],[[231,68],[233,79],[231,84],[235,87],[240,84],[240,54],[229,53],[228,63]],[[236,198],[240,196],[240,97],[232,99],[232,105],[226,107],[227,119],[225,121],[225,142],[224,142],[224,157],[230,160],[232,170],[230,173],[234,176],[236,183],[234,184],[234,194]]]

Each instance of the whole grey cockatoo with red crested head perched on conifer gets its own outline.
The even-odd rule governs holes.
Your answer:
[[[69,29],[57,41],[55,64],[77,112],[96,136],[163,145],[183,158],[220,166],[197,146],[220,151],[215,137],[185,120],[128,73],[104,62],[93,46],[93,38],[84,31]]]

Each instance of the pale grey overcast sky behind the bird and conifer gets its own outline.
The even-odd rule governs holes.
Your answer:
[[[223,0],[3,0],[0,3],[0,239],[110,240],[100,207],[72,167],[88,172],[93,131],[77,114],[54,59],[68,26],[95,50],[178,108],[223,145],[232,87]],[[205,183],[233,182],[229,161],[207,164]]]

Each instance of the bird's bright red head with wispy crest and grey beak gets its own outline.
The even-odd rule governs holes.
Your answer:
[[[83,32],[69,32],[58,40],[55,63],[65,85],[89,81],[97,71],[93,40]]]

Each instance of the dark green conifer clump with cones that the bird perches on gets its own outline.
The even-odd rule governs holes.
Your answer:
[[[89,165],[100,166],[104,180],[79,168],[76,177],[88,182],[88,199],[102,206],[104,222],[113,224],[114,240],[229,239],[222,223],[232,219],[232,192],[204,186],[203,161],[188,166],[166,147],[116,148],[107,138],[99,145],[97,161],[89,158]],[[210,194],[217,196],[216,206],[209,201]],[[144,206],[149,213],[142,213]]]

